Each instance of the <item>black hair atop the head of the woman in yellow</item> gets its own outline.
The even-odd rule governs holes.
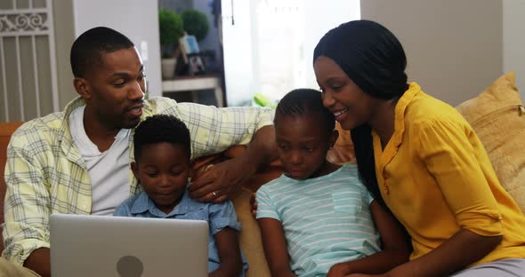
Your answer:
[[[382,25],[355,20],[333,28],[313,51],[333,59],[368,95],[377,99],[400,97],[407,89],[407,57],[399,40]]]

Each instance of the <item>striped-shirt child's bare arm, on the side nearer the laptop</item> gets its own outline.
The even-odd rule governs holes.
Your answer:
[[[257,219],[263,237],[264,256],[273,277],[295,277],[289,264],[287,240],[279,220],[274,218]]]

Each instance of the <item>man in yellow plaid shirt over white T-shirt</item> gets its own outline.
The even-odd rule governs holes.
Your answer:
[[[175,115],[190,130],[192,158],[247,144],[246,154],[214,166],[190,185],[202,202],[234,194],[272,158],[271,110],[216,108],[172,99],[143,100],[145,74],[133,43],[110,28],[93,28],[71,47],[74,86],[80,95],[64,112],[20,126],[7,149],[2,268],[50,275],[52,213],[111,215],[141,191],[129,169],[133,128],[145,117]],[[131,184],[131,186],[129,185]]]

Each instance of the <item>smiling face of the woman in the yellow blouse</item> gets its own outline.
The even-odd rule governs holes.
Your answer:
[[[341,123],[344,130],[351,130],[370,120],[378,99],[362,91],[333,59],[319,56],[313,69],[323,91],[323,105],[335,115],[335,120]]]

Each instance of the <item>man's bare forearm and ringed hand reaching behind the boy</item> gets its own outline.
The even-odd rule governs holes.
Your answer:
[[[254,134],[253,141],[243,154],[215,164],[192,182],[190,195],[201,202],[223,202],[238,193],[242,184],[257,169],[277,158],[273,125],[264,126]]]

